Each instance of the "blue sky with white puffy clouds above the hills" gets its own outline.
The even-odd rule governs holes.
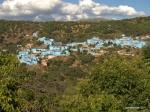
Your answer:
[[[0,19],[76,21],[150,15],[150,0],[0,0]]]

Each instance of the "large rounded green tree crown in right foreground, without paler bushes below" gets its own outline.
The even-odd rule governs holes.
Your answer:
[[[138,58],[108,57],[94,67],[81,93],[89,96],[106,92],[121,100],[124,106],[149,108],[150,77],[146,68]]]

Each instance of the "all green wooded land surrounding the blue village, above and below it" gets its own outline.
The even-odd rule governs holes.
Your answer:
[[[47,66],[21,64],[16,44],[32,34],[62,42],[150,35],[150,17],[98,22],[0,21],[0,112],[150,112],[150,45],[135,56],[72,53]],[[29,36],[27,36],[29,35]],[[3,49],[8,49],[4,52]]]

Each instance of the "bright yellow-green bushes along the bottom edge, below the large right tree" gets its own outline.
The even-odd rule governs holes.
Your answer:
[[[121,102],[108,94],[63,96],[59,104],[62,112],[122,112]]]

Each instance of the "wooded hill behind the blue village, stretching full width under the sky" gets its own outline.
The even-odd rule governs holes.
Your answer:
[[[84,41],[92,36],[116,38],[122,34],[131,36],[150,35],[150,17],[125,20],[103,18],[80,20],[76,22],[30,22],[0,20],[0,47],[16,46],[32,41],[32,34],[48,36],[57,41]]]

